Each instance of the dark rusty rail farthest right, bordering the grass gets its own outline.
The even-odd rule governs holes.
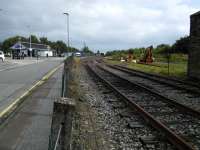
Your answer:
[[[200,94],[200,89],[199,89],[200,87],[197,86],[197,85],[194,85],[192,83],[184,82],[184,81],[173,79],[173,78],[167,78],[167,77],[164,77],[164,76],[159,76],[159,75],[156,75],[156,74],[154,75],[154,74],[150,74],[150,73],[146,73],[146,72],[142,72],[142,71],[138,71],[138,70],[133,70],[133,69],[130,69],[130,68],[127,68],[127,67],[119,66],[119,65],[106,64],[106,66],[111,67],[113,69],[117,69],[117,70],[126,72],[126,73],[131,74],[131,75],[136,75],[136,76],[139,76],[139,77],[142,77],[142,78],[147,78],[147,79],[153,80],[157,83],[172,86],[172,87],[175,87],[175,88],[180,89],[180,90],[185,90],[185,91],[188,91],[190,93]],[[155,79],[155,78],[157,78],[157,79]],[[178,82],[178,83],[181,83],[181,84],[185,84],[187,86],[191,86],[192,89],[184,87],[184,86],[179,86],[179,85],[176,85],[174,83],[167,82],[167,81],[162,81],[162,80],[168,80],[168,81],[171,81],[171,82]]]

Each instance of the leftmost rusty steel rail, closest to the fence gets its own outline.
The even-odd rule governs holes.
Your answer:
[[[122,92],[120,92],[117,88],[115,88],[111,83],[103,79],[98,73],[92,69],[91,66],[88,65],[88,69],[97,76],[104,84],[106,84],[109,88],[111,88],[113,91],[115,91],[123,100],[126,101],[127,104],[129,104],[131,107],[134,107],[138,110],[138,113],[146,120],[147,123],[149,123],[151,126],[153,126],[156,130],[159,130],[162,132],[166,138],[179,150],[194,150],[190,144],[188,144],[184,139],[182,139],[180,136],[172,132],[168,127],[166,127],[164,124],[162,124],[160,121],[156,120],[151,114],[146,112],[142,107],[131,101],[126,95],[124,95]],[[125,80],[125,79],[123,79]]]

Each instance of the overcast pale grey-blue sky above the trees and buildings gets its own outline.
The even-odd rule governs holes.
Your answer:
[[[200,0],[1,0],[0,41],[30,33],[94,50],[172,44],[189,34]],[[28,27],[29,26],[29,27]]]

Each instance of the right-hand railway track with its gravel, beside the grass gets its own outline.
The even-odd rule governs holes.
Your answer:
[[[112,72],[151,89],[163,97],[173,99],[182,105],[200,112],[200,90],[198,89],[198,86],[186,84],[179,80],[174,81],[167,78],[163,79],[162,77],[149,76],[143,72],[140,73],[124,67],[113,65],[106,65],[105,67],[109,67]]]

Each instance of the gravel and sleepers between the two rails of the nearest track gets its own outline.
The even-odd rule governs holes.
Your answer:
[[[173,129],[173,131],[177,135],[181,135],[181,136],[183,135],[183,137],[185,137],[187,141],[196,143],[196,146],[200,145],[200,141],[199,141],[200,126],[199,126],[199,119],[197,117],[188,115],[180,111],[176,107],[166,102],[162,102],[162,100],[159,97],[156,97],[155,95],[147,92],[146,90],[137,88],[137,86],[132,86],[132,84],[129,83],[128,81],[125,82],[124,80],[117,78],[98,68],[96,68],[96,71],[106,81],[109,81],[124,95],[129,97],[130,100],[134,101],[137,104],[138,102],[140,103],[141,101],[143,103],[146,102],[145,106],[142,106],[142,105],[140,106],[142,106],[145,109],[145,111],[149,112],[159,121],[164,123],[167,127]],[[159,104],[162,104],[160,107],[158,107],[159,106],[158,102]],[[173,125],[173,127],[171,126],[172,123],[175,124]],[[195,125],[197,129],[195,129],[194,131],[193,127]],[[188,137],[191,135],[193,136],[193,138]]]

